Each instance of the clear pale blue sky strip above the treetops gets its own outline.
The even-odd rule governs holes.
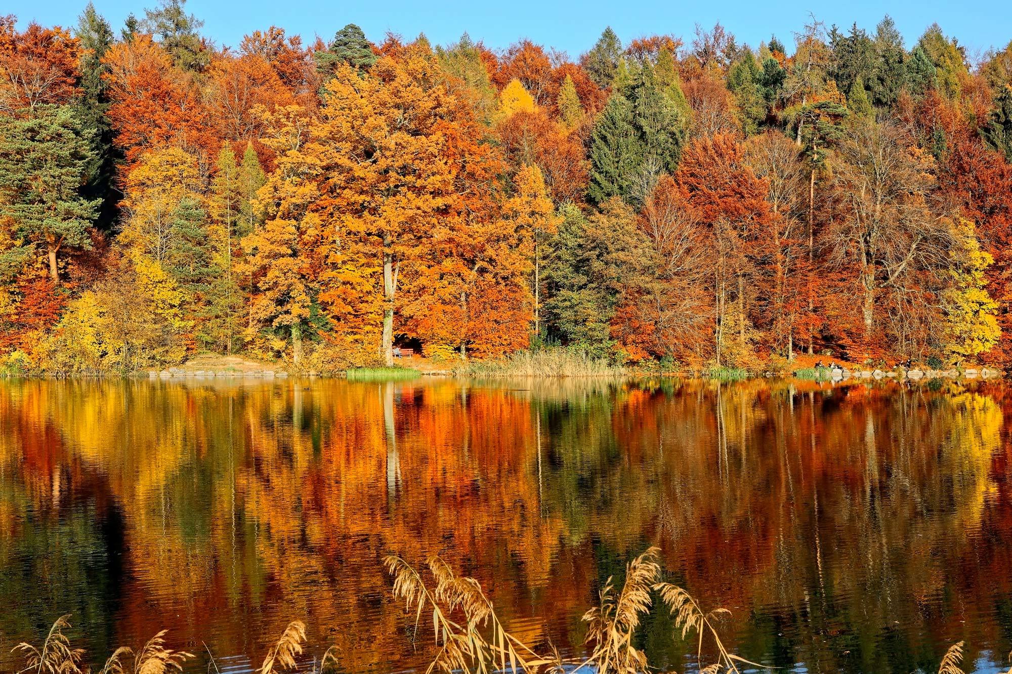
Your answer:
[[[143,15],[145,5],[156,0],[94,0],[95,7],[118,29],[130,12]],[[19,23],[31,19],[40,23],[68,25],[86,0],[5,0],[0,11],[18,16]],[[509,46],[521,37],[567,52],[576,59],[587,51],[605,25],[611,25],[623,43],[652,33],[681,35],[691,41],[693,27],[721,21],[739,41],[755,47],[775,32],[789,44],[815,11],[827,25],[858,25],[869,30],[890,13],[908,45],[932,22],[946,34],[954,35],[971,53],[1004,47],[1012,39],[1012,0],[939,2],[901,0],[873,2],[775,2],[773,0],[726,0],[725,2],[545,2],[532,0],[491,0],[482,2],[300,2],[298,0],[189,0],[187,9],[204,20],[203,32],[218,45],[236,46],[243,34],[270,24],[280,25],[289,34],[302,34],[311,43],[316,34],[325,39],[345,23],[357,23],[372,40],[381,40],[388,30],[413,37],[424,32],[434,44],[447,44],[467,30],[476,40],[493,49]]]

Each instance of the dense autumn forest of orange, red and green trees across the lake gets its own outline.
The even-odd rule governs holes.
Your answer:
[[[1012,358],[1012,43],[201,25],[0,17],[5,371]]]

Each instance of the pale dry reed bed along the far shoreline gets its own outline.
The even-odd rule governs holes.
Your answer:
[[[472,360],[453,369],[456,376],[622,376],[624,367],[582,351],[564,348],[517,351],[501,360]]]

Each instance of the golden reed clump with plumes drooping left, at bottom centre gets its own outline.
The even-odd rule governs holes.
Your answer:
[[[389,556],[384,565],[394,578],[394,596],[404,600],[407,610],[415,615],[416,635],[426,608],[432,613],[438,651],[426,674],[435,670],[446,674],[459,671],[491,674],[497,669],[505,672],[507,663],[513,674],[521,669],[535,673],[561,668],[558,654],[554,658],[539,657],[506,631],[481,584],[474,578],[457,576],[440,558],[426,561],[435,584],[431,589],[422,575],[401,558]],[[488,638],[483,630],[489,634]]]

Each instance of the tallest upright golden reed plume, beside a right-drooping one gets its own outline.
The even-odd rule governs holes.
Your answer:
[[[661,574],[660,550],[650,547],[625,567],[625,583],[616,594],[609,577],[600,592],[599,605],[583,614],[587,622],[585,644],[593,650],[587,662],[601,672],[637,674],[646,671],[647,655],[632,646],[641,616],[650,611],[650,591]]]

